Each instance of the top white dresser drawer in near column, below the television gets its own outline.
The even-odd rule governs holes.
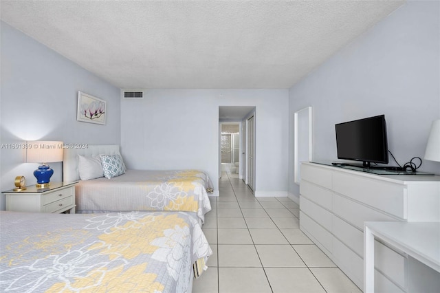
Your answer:
[[[334,172],[333,191],[401,219],[407,217],[407,190],[401,184],[376,180],[366,176]]]

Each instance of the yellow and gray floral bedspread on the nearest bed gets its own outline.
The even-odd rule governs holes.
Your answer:
[[[0,292],[190,292],[212,254],[191,213],[0,211]]]

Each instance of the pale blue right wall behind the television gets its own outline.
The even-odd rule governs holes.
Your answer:
[[[295,111],[313,106],[314,160],[335,161],[334,124],[385,114],[388,149],[404,164],[423,158],[440,118],[439,87],[440,3],[408,1],[289,90],[289,126]],[[298,195],[293,158],[290,147],[289,193]],[[440,174],[440,163],[423,160],[419,171]]]

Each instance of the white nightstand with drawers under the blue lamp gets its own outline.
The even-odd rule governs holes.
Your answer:
[[[4,191],[6,210],[34,213],[75,213],[76,182],[50,182],[47,188],[27,186],[25,191]]]

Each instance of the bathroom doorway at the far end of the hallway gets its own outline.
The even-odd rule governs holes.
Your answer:
[[[221,123],[221,172],[240,172],[240,123]]]

